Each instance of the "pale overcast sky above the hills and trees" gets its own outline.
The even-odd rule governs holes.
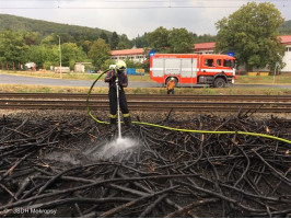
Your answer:
[[[286,21],[291,20],[291,0],[268,2]],[[216,22],[246,3],[247,0],[0,0],[0,13],[98,27],[132,39],[159,26],[216,35]]]

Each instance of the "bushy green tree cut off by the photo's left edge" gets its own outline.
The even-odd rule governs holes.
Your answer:
[[[26,51],[28,46],[24,42],[22,34],[12,31],[2,31],[0,33],[0,61],[24,64],[27,61]]]

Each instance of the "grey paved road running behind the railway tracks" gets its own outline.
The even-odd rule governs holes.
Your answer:
[[[46,79],[46,78],[33,78],[0,73],[0,84],[26,84],[26,85],[60,85],[60,87],[88,87],[90,88],[92,81],[85,80],[61,80],[61,79]],[[97,81],[95,84],[98,88],[107,87],[106,83]],[[161,84],[155,82],[130,82],[129,88],[161,88]],[[179,87],[191,88],[191,84],[183,84]],[[194,88],[200,88],[203,85],[194,85]],[[233,84],[233,88],[287,88],[291,89],[291,84]]]

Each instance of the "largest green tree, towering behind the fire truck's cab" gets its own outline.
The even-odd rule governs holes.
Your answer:
[[[248,2],[240,10],[217,22],[219,30],[216,51],[234,51],[238,65],[252,68],[282,67],[284,48],[278,28],[284,20],[272,3]]]

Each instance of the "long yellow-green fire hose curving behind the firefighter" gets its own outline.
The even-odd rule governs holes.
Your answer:
[[[103,120],[100,120],[97,119],[95,116],[92,115],[91,111],[90,111],[90,107],[89,107],[89,99],[90,99],[90,94],[95,85],[95,83],[98,81],[98,79],[104,74],[106,73],[107,71],[109,71],[110,69],[107,69],[106,71],[102,72],[97,78],[96,80],[92,83],[89,92],[88,92],[88,95],[86,95],[86,111],[88,111],[88,114],[97,123],[100,124],[109,124],[108,122],[103,122]],[[159,128],[163,128],[163,129],[167,129],[167,130],[176,130],[176,131],[183,131],[183,132],[196,132],[196,134],[236,134],[236,135],[246,135],[246,136],[257,136],[257,137],[261,137],[261,138],[270,138],[270,139],[273,139],[273,140],[279,140],[279,141],[283,141],[283,142],[287,142],[287,143],[290,143],[291,145],[291,140],[287,140],[287,139],[283,139],[283,138],[279,138],[279,137],[276,137],[276,136],[269,136],[269,135],[265,135],[265,134],[258,134],[258,132],[247,132],[247,131],[223,131],[223,130],[220,130],[220,131],[213,131],[213,130],[191,130],[191,129],[181,129],[181,128],[173,128],[173,127],[167,127],[167,126],[161,126],[161,125],[156,125],[156,124],[151,124],[151,123],[143,123],[143,122],[131,122],[132,124],[139,124],[139,125],[146,125],[146,126],[153,126],[153,127],[159,127]]]

